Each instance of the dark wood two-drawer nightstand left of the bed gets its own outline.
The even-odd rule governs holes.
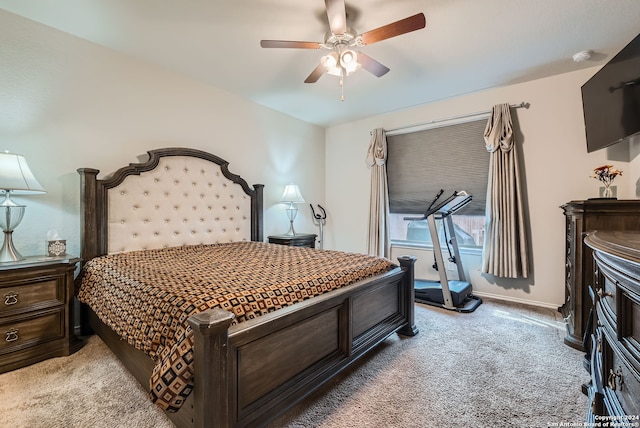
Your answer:
[[[0,263],[0,373],[82,347],[73,322],[79,261],[40,256]]]

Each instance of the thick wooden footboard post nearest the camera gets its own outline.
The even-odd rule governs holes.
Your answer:
[[[231,312],[213,308],[187,319],[194,339],[195,428],[230,427],[235,422],[228,334],[233,318]]]

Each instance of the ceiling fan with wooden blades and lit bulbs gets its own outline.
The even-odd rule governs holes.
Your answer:
[[[305,79],[305,83],[315,83],[326,72],[339,76],[340,86],[344,84],[344,76],[349,76],[360,67],[371,74],[380,77],[389,68],[370,56],[354,50],[354,48],[370,45],[381,40],[400,36],[411,31],[425,28],[426,19],[423,13],[401,19],[391,24],[383,25],[362,34],[347,27],[347,14],[344,0],[325,0],[327,18],[330,31],[325,36],[324,43],[300,42],[287,40],[261,40],[263,48],[294,48],[294,49],[327,49],[330,52],[323,56],[320,64]],[[344,95],[342,98],[344,100]]]

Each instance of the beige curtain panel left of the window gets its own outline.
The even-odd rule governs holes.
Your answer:
[[[371,131],[371,142],[366,162],[371,169],[367,252],[389,258],[391,256],[389,187],[387,183],[387,137],[384,129],[377,128]]]

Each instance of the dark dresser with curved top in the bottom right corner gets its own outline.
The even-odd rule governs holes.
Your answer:
[[[591,232],[585,244],[595,261],[587,422],[638,426],[640,232]]]

